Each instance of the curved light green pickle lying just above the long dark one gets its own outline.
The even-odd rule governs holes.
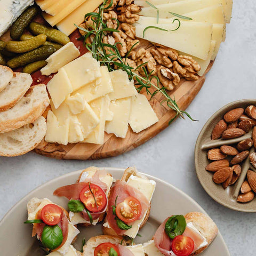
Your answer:
[[[9,41],[6,42],[5,49],[9,52],[23,53],[36,49],[46,41],[46,35],[38,35],[27,41]]]

